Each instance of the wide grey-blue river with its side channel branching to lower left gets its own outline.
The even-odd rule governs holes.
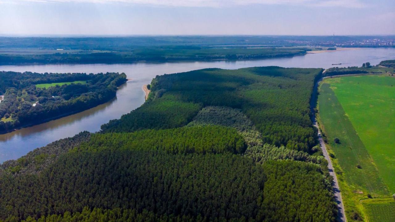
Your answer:
[[[19,158],[37,147],[42,147],[58,139],[71,137],[88,130],[96,132],[100,125],[111,119],[118,119],[144,103],[142,86],[150,83],[156,75],[177,73],[203,68],[238,69],[252,66],[282,66],[299,68],[330,68],[336,66],[361,66],[363,62],[378,64],[382,60],[395,59],[395,49],[354,49],[327,53],[307,54],[292,58],[265,60],[238,60],[214,62],[166,62],[135,64],[55,64],[0,66],[4,71],[32,71],[53,73],[126,73],[132,79],[122,85],[113,100],[81,113],[22,128],[0,135],[0,163]]]

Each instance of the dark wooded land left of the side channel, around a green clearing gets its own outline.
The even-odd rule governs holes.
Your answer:
[[[85,84],[62,85],[83,81]],[[83,111],[115,97],[117,87],[126,82],[124,73],[19,73],[0,71],[0,132],[27,124]],[[36,84],[59,83],[39,88]]]

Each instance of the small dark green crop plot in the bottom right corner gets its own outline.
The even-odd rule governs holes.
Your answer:
[[[395,201],[393,198],[366,199],[362,201],[369,222],[394,222]]]

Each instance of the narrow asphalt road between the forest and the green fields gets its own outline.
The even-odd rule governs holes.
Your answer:
[[[314,109],[313,108],[315,107],[315,104],[316,104],[316,101],[317,101],[317,88],[318,88],[318,83],[320,83],[320,81],[318,81],[316,83],[316,85],[314,86],[314,92],[313,92],[313,95],[312,95],[312,103],[310,104],[311,105],[311,111],[313,113],[312,121],[314,123],[314,126],[317,129],[319,129],[319,128],[318,128],[318,125],[317,125],[317,121],[315,119]],[[329,173],[333,177],[333,183],[332,183],[333,194],[335,194],[335,201],[337,203],[337,209],[339,210],[338,221],[339,222],[346,222],[347,218],[346,218],[345,213],[344,213],[344,205],[343,205],[342,194],[340,193],[340,190],[339,190],[339,183],[337,182],[337,177],[336,177],[336,174],[335,174],[335,170],[333,169],[331,159],[329,158],[329,155],[328,155],[325,143],[324,143],[324,139],[322,139],[321,136],[319,136],[318,139],[319,139],[319,142],[320,142],[320,147],[322,149],[322,152],[324,153],[324,157],[328,161]]]

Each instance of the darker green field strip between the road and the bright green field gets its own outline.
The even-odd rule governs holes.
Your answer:
[[[342,172],[336,173],[344,175],[347,184],[361,189],[365,194],[387,195],[387,187],[380,178],[371,156],[330,86],[328,83],[321,85],[318,104],[329,147],[342,168]],[[334,142],[336,137],[340,139],[339,144]],[[358,165],[361,169],[357,168]]]

